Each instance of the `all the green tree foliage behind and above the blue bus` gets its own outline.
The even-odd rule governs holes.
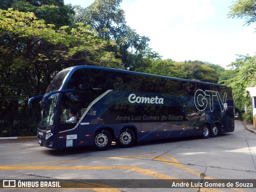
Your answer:
[[[2,0],[0,123],[7,133],[14,134],[20,125],[22,130],[33,130],[36,122],[27,120],[26,124],[15,119],[19,118],[17,112],[27,111],[26,100],[44,94],[60,70],[76,65],[227,84],[233,88],[239,112],[244,111],[245,104],[250,106],[245,89],[256,85],[256,56],[239,56],[228,70],[198,60],[162,60],[148,48],[148,37],[140,36],[126,25],[120,2],[95,0],[87,8],[81,8],[64,5],[64,0]],[[252,0],[236,0],[230,10],[229,17],[245,18],[246,24],[256,20]],[[38,105],[37,102],[35,109]],[[37,113],[35,110],[32,114]]]

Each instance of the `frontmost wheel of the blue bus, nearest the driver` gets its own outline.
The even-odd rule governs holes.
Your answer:
[[[97,131],[94,137],[94,148],[96,150],[107,150],[112,143],[112,136],[106,130]]]

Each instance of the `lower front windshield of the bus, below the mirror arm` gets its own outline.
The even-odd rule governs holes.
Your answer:
[[[57,100],[58,100],[58,94],[52,95],[48,99],[46,109],[42,110],[42,119],[39,122],[39,126],[41,126],[42,128],[47,128],[53,125]]]

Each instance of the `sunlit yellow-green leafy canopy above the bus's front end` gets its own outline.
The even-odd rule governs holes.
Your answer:
[[[2,70],[22,69],[24,72],[25,69],[30,75],[30,83],[35,86],[41,81],[49,83],[50,73],[65,67],[67,62],[92,62],[121,68],[121,60],[116,59],[113,52],[105,50],[106,46],[114,46],[115,43],[99,38],[90,26],[78,23],[77,28],[70,31],[67,27],[58,31],[52,27],[43,20],[37,20],[32,12],[0,10],[0,41],[3,45],[0,46],[0,54],[2,66],[6,66]],[[44,78],[48,79],[45,81]]]

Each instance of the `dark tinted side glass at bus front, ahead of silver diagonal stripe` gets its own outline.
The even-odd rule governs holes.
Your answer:
[[[110,72],[97,69],[78,69],[68,80],[66,89],[70,88],[74,88],[75,91],[62,96],[60,110],[60,122],[62,122],[60,126],[62,128],[60,130],[70,128],[70,125],[63,124],[63,122],[70,118],[72,111],[76,112],[76,118],[79,120],[89,104],[110,89]]]

